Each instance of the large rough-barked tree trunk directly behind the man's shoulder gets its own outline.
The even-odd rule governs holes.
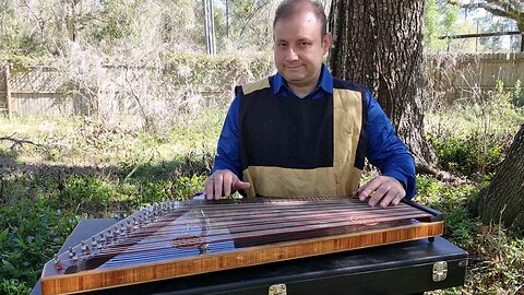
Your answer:
[[[424,134],[424,0],[333,0],[330,25],[335,76],[369,87],[419,172],[434,172],[436,155]]]

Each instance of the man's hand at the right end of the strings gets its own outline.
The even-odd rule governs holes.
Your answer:
[[[397,205],[406,196],[406,190],[395,178],[381,175],[358,188],[356,194],[360,201],[369,198],[370,206],[374,206],[380,201],[380,206],[386,208],[390,203]]]

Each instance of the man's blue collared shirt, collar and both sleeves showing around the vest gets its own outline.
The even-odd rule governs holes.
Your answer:
[[[306,97],[299,98],[286,84],[281,73],[273,76],[272,91],[289,99],[319,99],[333,94],[333,76],[327,67],[322,66],[319,85]],[[380,169],[382,175],[392,176],[406,188],[406,198],[415,196],[415,161],[406,145],[396,135],[395,128],[384,114],[371,92],[365,92],[368,104],[367,154],[368,161]],[[229,169],[242,178],[240,162],[240,134],[238,111],[240,96],[233,101],[218,139],[217,154],[212,173]]]

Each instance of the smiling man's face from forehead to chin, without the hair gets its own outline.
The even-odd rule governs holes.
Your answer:
[[[297,11],[275,25],[275,66],[291,90],[317,86],[322,58],[331,46],[331,35],[322,38],[321,27],[321,22],[309,11]]]

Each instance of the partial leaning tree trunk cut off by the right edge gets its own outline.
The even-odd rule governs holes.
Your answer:
[[[490,221],[524,229],[524,125],[489,187],[480,192],[478,213]]]

